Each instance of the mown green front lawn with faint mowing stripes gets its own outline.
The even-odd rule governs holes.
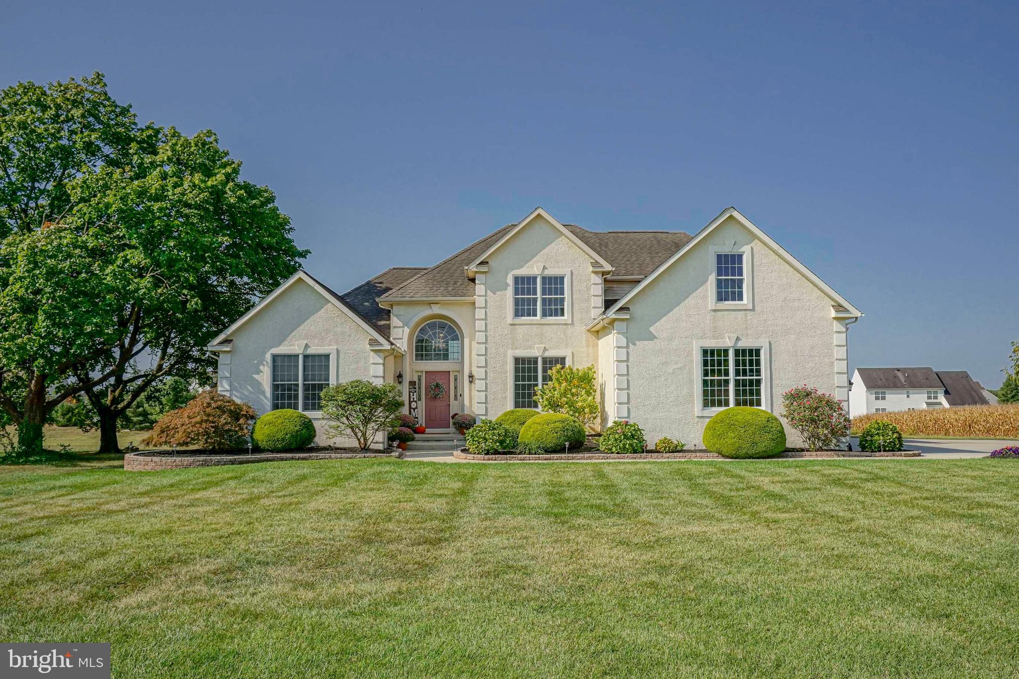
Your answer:
[[[116,677],[1002,676],[1019,464],[0,468],[0,638]]]

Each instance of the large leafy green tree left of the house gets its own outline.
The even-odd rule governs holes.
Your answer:
[[[19,448],[84,394],[104,450],[157,380],[207,373],[205,344],[307,254],[212,132],[139,125],[101,74],[0,92],[0,407]]]

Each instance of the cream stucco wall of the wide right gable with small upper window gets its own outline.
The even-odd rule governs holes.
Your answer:
[[[750,245],[753,298],[750,310],[710,310],[711,245]],[[629,302],[624,322],[629,417],[644,428],[649,445],[661,436],[702,447],[709,416],[698,416],[698,341],[765,340],[769,343],[769,409],[777,413],[783,392],[801,384],[836,393],[832,300],[793,267],[729,218]],[[619,325],[619,324],[618,324]],[[736,346],[739,346],[737,342]],[[799,443],[786,428],[790,445]]]

